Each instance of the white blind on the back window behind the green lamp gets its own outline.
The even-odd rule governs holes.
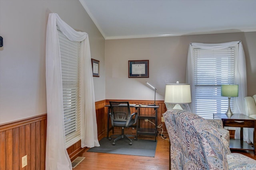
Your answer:
[[[220,50],[194,49],[194,82],[196,113],[212,119],[213,113],[225,113],[228,98],[220,96],[221,84],[234,84],[236,47]],[[230,107],[234,108],[231,98]]]

